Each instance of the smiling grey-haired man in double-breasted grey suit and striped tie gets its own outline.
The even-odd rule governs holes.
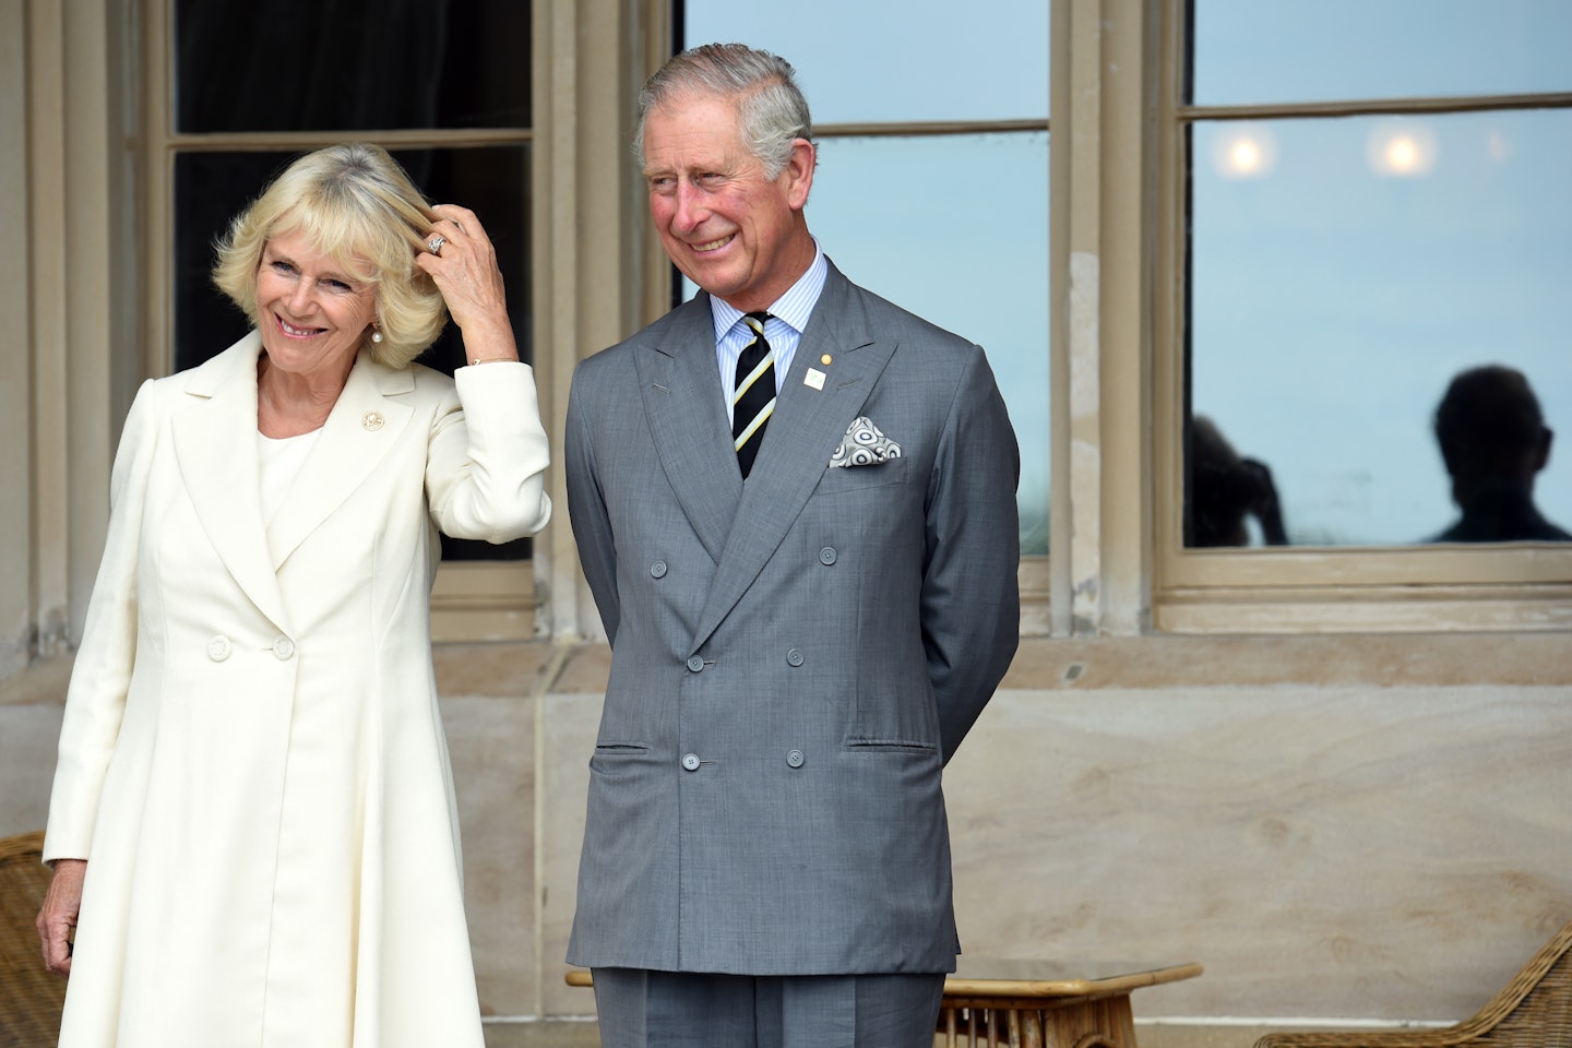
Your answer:
[[[940,776],[1016,650],[1016,437],[978,346],[808,233],[786,61],[678,55],[638,145],[703,294],[574,374],[612,676],[567,960],[605,1048],[929,1046],[959,951]]]

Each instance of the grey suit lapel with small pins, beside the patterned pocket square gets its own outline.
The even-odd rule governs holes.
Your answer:
[[[863,313],[852,308],[850,291],[850,283],[832,266],[808,330],[792,355],[759,457],[742,486],[720,567],[693,635],[693,650],[709,639],[773,556],[894,354],[896,343],[876,339]],[[828,365],[821,360],[825,355]],[[822,390],[803,382],[810,368],[824,372]],[[711,371],[715,371],[714,361]],[[723,446],[729,448],[729,442]]]

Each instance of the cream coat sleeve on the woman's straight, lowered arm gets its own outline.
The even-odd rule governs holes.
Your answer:
[[[90,858],[99,795],[119,738],[137,657],[137,550],[157,446],[156,399],[152,382],[145,382],[126,416],[110,471],[108,534],[66,690],[46,863]]]

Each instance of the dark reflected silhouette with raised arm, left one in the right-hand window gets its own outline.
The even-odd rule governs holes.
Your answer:
[[[1254,517],[1267,545],[1287,545],[1272,470],[1243,459],[1206,415],[1190,420],[1190,515],[1185,545],[1250,545]]]

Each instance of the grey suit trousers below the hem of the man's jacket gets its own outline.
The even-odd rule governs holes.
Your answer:
[[[943,974],[596,968],[601,1048],[932,1048]]]

